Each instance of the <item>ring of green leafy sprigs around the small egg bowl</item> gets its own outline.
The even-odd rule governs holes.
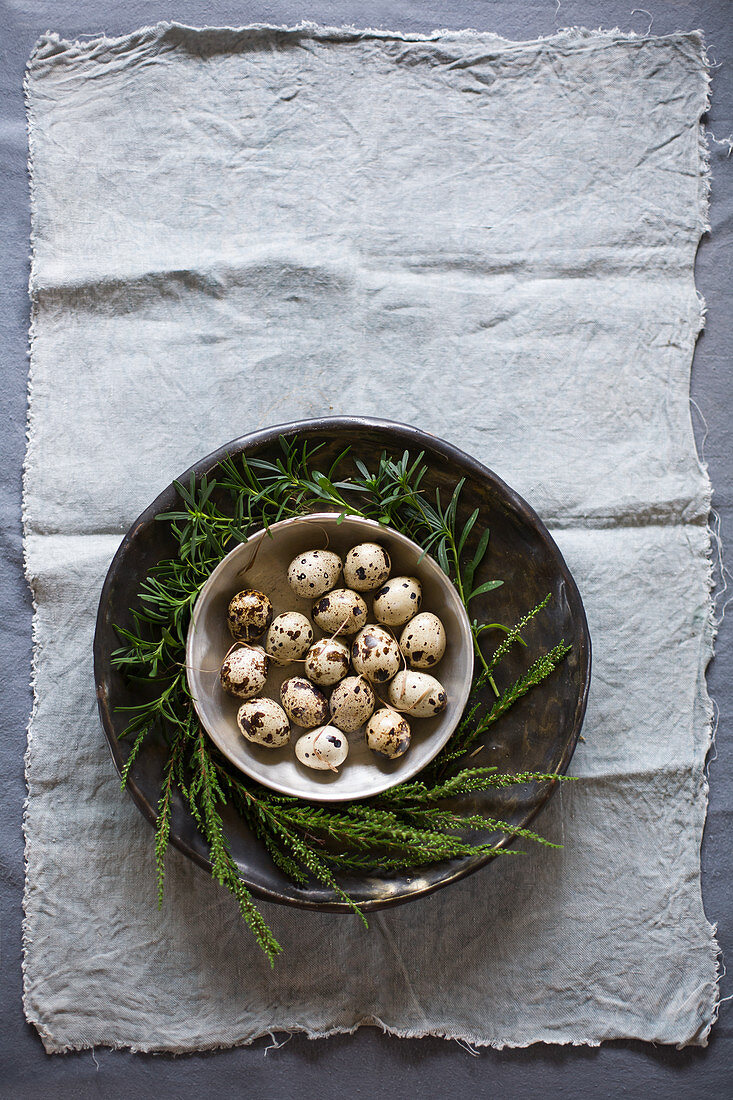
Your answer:
[[[378,798],[325,806],[276,794],[232,769],[204,735],[194,712],[185,674],[186,634],[192,609],[214,568],[253,529],[269,528],[291,516],[314,510],[339,512],[376,519],[413,539],[433,554],[456,585],[468,608],[479,596],[502,584],[477,576],[489,551],[490,534],[478,531],[479,509],[459,524],[464,481],[452,487],[448,503],[423,487],[427,474],[423,453],[394,459],[380,457],[374,471],[349,449],[328,469],[313,469],[321,447],[281,438],[275,461],[227,459],[198,483],[176,483],[180,505],[157,517],[169,526],[178,554],[158,562],[143,582],[139,603],[130,609],[131,625],[117,627],[120,648],[113,664],[140,685],[141,702],[124,708],[130,715],[125,735],[133,737],[122,772],[122,787],[145,738],[165,737],[168,757],[163,773],[155,831],[158,905],[163,900],[164,860],[171,835],[176,792],[193,814],[209,846],[211,873],[237,899],[240,912],[271,963],[281,946],[265,924],[242,882],[231,855],[222,809],[239,813],[262,840],[273,862],[299,884],[317,881],[357,912],[358,905],[340,886],[339,873],[398,872],[447,859],[510,854],[507,837],[548,844],[522,829],[471,807],[463,796],[511,784],[556,782],[553,774],[503,774],[470,763],[470,752],[489,727],[532,688],[551,675],[569,651],[562,641],[537,657],[529,668],[500,692],[494,672],[515,645],[526,646],[522,632],[549,601],[547,596],[513,627],[472,622],[477,673],[461,723],[445,749],[419,779]],[[500,630],[504,637],[488,658],[483,637]],[[484,702],[489,684],[493,702]],[[450,803],[447,805],[447,803]],[[471,840],[482,833],[486,840]],[[501,846],[497,846],[499,842]],[[365,923],[365,921],[364,921]]]

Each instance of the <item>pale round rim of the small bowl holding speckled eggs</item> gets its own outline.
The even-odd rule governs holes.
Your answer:
[[[215,732],[212,732],[209,728],[209,725],[206,721],[206,715],[201,710],[201,707],[199,706],[199,701],[194,692],[194,683],[192,680],[193,664],[190,660],[190,654],[194,645],[194,635],[196,632],[196,624],[198,620],[198,616],[200,615],[201,607],[204,605],[208,592],[210,592],[214,585],[216,584],[217,576],[220,575],[222,572],[225,572],[227,563],[233,557],[241,554],[243,552],[243,549],[250,546],[255,540],[259,543],[259,541],[263,538],[266,538],[270,532],[280,531],[288,527],[302,527],[302,526],[304,527],[306,524],[317,522],[317,521],[322,522],[324,520],[335,522],[338,520],[339,516],[343,516],[344,522],[349,519],[353,519],[358,520],[360,526],[366,525],[371,527],[374,530],[375,536],[382,534],[382,537],[384,537],[384,534],[386,532],[390,535],[392,539],[402,543],[403,547],[414,552],[417,552],[420,556],[419,565],[422,568],[427,568],[429,572],[434,574],[436,581],[440,584],[444,592],[450,592],[452,594],[456,612],[460,620],[460,631],[461,631],[460,647],[463,652],[467,652],[469,654],[469,658],[473,657],[473,636],[471,634],[471,623],[468,617],[468,612],[466,610],[466,606],[463,605],[458,592],[456,591],[456,586],[451,582],[450,578],[446,576],[445,572],[440,569],[440,565],[435,560],[435,558],[430,557],[429,553],[426,553],[426,551],[423,549],[422,546],[419,546],[419,543],[415,542],[406,535],[403,535],[401,531],[395,530],[394,527],[389,527],[384,524],[380,524],[375,519],[368,519],[362,516],[354,516],[351,515],[350,513],[313,512],[308,513],[307,516],[291,516],[287,519],[280,519],[275,524],[270,524],[269,527],[266,528],[262,527],[259,530],[254,531],[254,534],[251,535],[250,538],[248,538],[247,542],[240,542],[232,550],[230,550],[229,553],[226,554],[226,557],[221,559],[219,564],[211,571],[211,573],[208,576],[208,580],[201,586],[201,590],[198,596],[196,597],[196,603],[194,604],[194,607],[192,609],[190,623],[188,624],[188,632],[186,635],[186,682],[188,684],[188,690],[190,693],[192,702],[194,704],[194,710],[196,711],[196,714],[198,715],[199,721],[207,733],[207,736],[214,741],[219,751],[227,757],[229,762],[233,765],[234,768],[243,772],[243,774],[249,776],[250,779],[255,780],[255,782],[261,783],[263,787],[267,787],[270,790],[276,791],[278,794],[291,794],[294,798],[303,799],[306,802],[359,802],[362,799],[376,798],[379,794],[384,794],[385,791],[390,791],[393,787],[397,787],[400,783],[406,783],[408,780],[414,779],[414,777],[417,776],[418,772],[420,772],[424,768],[426,768],[430,763],[431,760],[435,759],[440,749],[445,747],[445,745],[448,743],[448,740],[455,733],[458,723],[461,721],[461,716],[466,707],[466,704],[468,703],[468,698],[471,693],[471,685],[473,682],[473,660],[471,659],[469,660],[469,671],[467,675],[463,678],[463,684],[461,686],[461,691],[459,692],[456,700],[458,705],[456,707],[455,719],[452,721],[452,723],[447,722],[445,724],[446,726],[445,730],[438,729],[434,732],[434,734],[431,735],[431,739],[435,739],[435,745],[431,746],[430,755],[427,758],[422,758],[417,762],[408,765],[406,770],[401,772],[400,774],[383,772],[382,773],[383,782],[381,784],[378,783],[373,789],[370,789],[370,791],[366,792],[365,794],[354,794],[353,792],[349,794],[346,793],[340,794],[336,785],[333,788],[330,787],[322,788],[324,791],[322,794],[304,793],[302,790],[297,790],[295,787],[292,787],[288,783],[278,783],[276,781],[273,782],[272,780],[269,782],[267,779],[264,779],[260,772],[247,768],[243,765],[242,760],[229,749],[227,743],[222,739],[219,739],[219,737],[215,734]],[[424,670],[418,669],[417,671],[424,671]],[[295,728],[298,729],[299,727],[296,726]]]

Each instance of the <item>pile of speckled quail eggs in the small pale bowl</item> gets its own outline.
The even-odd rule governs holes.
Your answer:
[[[263,592],[232,597],[234,647],[219,679],[244,701],[237,723],[248,741],[280,749],[291,740],[292,724],[305,730],[295,741],[300,763],[336,772],[349,755],[348,734],[363,726],[369,748],[396,760],[409,748],[408,719],[446,708],[445,689],[424,671],[442,658],[446,630],[437,615],[420,610],[417,578],[391,571],[390,556],[376,542],[352,547],[343,561],[332,550],[298,554],[287,580],[297,596],[313,601],[313,622],[295,610],[273,618]],[[369,622],[365,594],[373,596],[375,622]],[[322,637],[316,639],[314,626]],[[303,667],[282,684],[280,702],[261,694],[271,661]]]

